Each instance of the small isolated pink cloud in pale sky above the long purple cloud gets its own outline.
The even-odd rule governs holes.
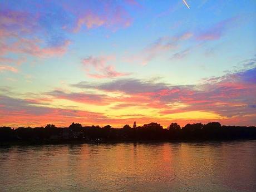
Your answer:
[[[131,73],[117,72],[114,65],[107,65],[107,62],[113,61],[115,58],[111,56],[106,57],[87,57],[82,60],[82,65],[87,71],[87,75],[92,78],[115,78],[122,76],[129,76]],[[96,73],[90,73],[93,68]]]

